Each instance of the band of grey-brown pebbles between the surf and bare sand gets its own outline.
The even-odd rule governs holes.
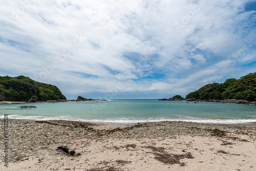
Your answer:
[[[38,152],[38,149],[41,151],[50,151],[52,149],[52,155],[56,154],[55,148],[59,146],[69,146],[70,144],[64,144],[67,142],[72,142],[71,147],[77,147],[77,151],[81,152],[78,147],[86,146],[88,149],[87,143],[77,144],[78,139],[90,139],[97,141],[108,140],[109,138],[122,138],[122,139],[143,139],[143,138],[157,138],[157,139],[166,139],[174,138],[176,135],[189,135],[193,136],[212,136],[209,130],[218,129],[220,131],[226,132],[227,135],[232,134],[232,136],[238,137],[239,135],[250,135],[251,137],[256,136],[256,128],[250,127],[236,127],[230,125],[221,125],[221,124],[211,124],[211,123],[196,123],[196,122],[152,122],[139,124],[139,126],[134,126],[131,129],[126,129],[125,131],[116,130],[109,132],[108,130],[95,130],[89,129],[87,126],[93,126],[95,124],[88,122],[74,122],[74,121],[64,121],[64,120],[52,120],[52,121],[40,121],[40,122],[10,122],[8,124],[8,130],[13,134],[13,138],[9,139],[8,144],[10,145],[10,158],[9,162],[16,162],[22,158],[29,156],[39,156],[41,152]],[[146,126],[144,126],[146,125]],[[195,129],[195,127],[197,129]],[[149,131],[151,130],[151,131]],[[66,135],[69,136],[66,136]],[[99,136],[100,135],[100,136]],[[32,138],[33,137],[33,138]],[[194,142],[194,140],[192,140]],[[75,144],[74,144],[75,143]],[[112,144],[112,142],[109,142]],[[17,146],[26,146],[17,149]],[[28,148],[27,148],[28,147]],[[44,149],[42,149],[44,147]],[[255,146],[256,148],[256,146]],[[30,151],[28,150],[30,149]],[[79,150],[78,150],[79,149]],[[184,151],[187,148],[184,148]],[[198,150],[197,148],[194,148]],[[17,154],[17,151],[19,155]],[[88,149],[87,153],[91,153],[92,149]],[[21,155],[24,153],[25,155]],[[62,154],[62,153],[60,153]],[[82,153],[84,154],[84,153]],[[58,155],[58,154],[57,154]],[[119,153],[120,155],[120,153]],[[137,155],[137,154],[136,154]],[[143,155],[146,155],[143,152]],[[57,157],[57,156],[56,156]],[[59,156],[58,156],[59,157]],[[42,161],[42,159],[40,159]],[[38,160],[39,161],[39,160]]]

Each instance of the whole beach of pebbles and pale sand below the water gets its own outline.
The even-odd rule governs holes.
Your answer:
[[[256,127],[154,122],[96,125],[9,120],[0,170],[255,170]],[[70,156],[58,146],[74,149]]]

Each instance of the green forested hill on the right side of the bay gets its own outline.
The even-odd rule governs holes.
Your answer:
[[[224,83],[206,84],[199,90],[189,93],[186,99],[256,101],[256,72],[245,75],[240,79],[227,79]]]

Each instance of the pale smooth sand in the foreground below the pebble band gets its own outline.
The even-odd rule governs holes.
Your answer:
[[[241,138],[248,138],[242,136]],[[173,139],[143,139],[143,140],[116,140],[108,142],[76,140],[69,148],[75,148],[81,156],[68,156],[63,152],[55,151],[56,147],[40,149],[36,156],[25,161],[9,163],[8,168],[3,163],[0,170],[87,170],[104,166],[115,166],[122,170],[256,170],[255,142],[241,142],[224,139],[233,145],[221,145],[222,141],[216,137],[177,136]],[[136,148],[115,149],[127,144],[136,144]],[[194,159],[181,159],[185,166],[179,164],[164,164],[155,158],[152,149],[144,146],[164,147],[167,153],[185,154],[190,152]],[[185,152],[182,152],[185,149]],[[218,153],[218,150],[229,154]],[[38,163],[38,159],[42,162]],[[116,160],[131,161],[120,165]],[[103,162],[111,162],[103,165]],[[75,169],[74,169],[75,168]],[[105,167],[104,169],[107,169]],[[103,170],[103,169],[102,169]]]

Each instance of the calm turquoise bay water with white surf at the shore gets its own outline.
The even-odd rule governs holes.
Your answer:
[[[37,109],[19,109],[35,105]],[[193,121],[203,123],[256,122],[256,105],[158,100],[108,100],[59,103],[0,104],[3,118],[74,120],[111,123]]]

